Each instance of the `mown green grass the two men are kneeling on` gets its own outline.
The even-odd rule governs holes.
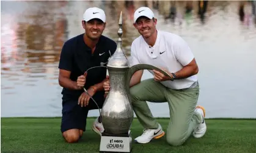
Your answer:
[[[1,118],[1,152],[98,152],[100,136],[90,126],[79,143],[68,144],[60,133],[60,118]],[[168,119],[158,119],[166,130]],[[173,147],[166,137],[147,144],[133,143],[133,152],[256,152],[255,119],[206,119],[207,133],[203,138],[189,138],[183,146]],[[134,119],[133,139],[142,133],[142,126]]]

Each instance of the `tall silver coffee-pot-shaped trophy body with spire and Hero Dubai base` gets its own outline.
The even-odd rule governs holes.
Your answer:
[[[122,51],[122,24],[121,12],[117,49],[107,64],[111,89],[101,109],[104,132],[101,135],[100,152],[131,152],[132,148],[129,129],[134,115],[127,91],[129,89],[126,88],[126,73],[130,66]]]

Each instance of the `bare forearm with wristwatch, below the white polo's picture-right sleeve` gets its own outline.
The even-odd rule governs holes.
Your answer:
[[[194,76],[198,73],[198,67],[197,66],[185,66],[180,71],[177,71],[175,74],[175,79],[185,79],[190,76]]]

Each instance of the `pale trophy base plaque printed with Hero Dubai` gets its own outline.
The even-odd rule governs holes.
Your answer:
[[[109,135],[102,133],[100,140],[100,152],[131,152],[131,130],[121,135]]]

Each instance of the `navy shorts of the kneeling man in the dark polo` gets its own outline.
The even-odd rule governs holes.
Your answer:
[[[60,131],[62,133],[70,129],[80,129],[85,131],[89,110],[98,109],[92,99],[90,99],[89,105],[81,107],[81,105],[78,105],[78,98],[71,98],[71,96],[62,97],[62,120],[60,126]],[[101,109],[104,103],[104,93],[100,91],[92,98],[97,102]]]

